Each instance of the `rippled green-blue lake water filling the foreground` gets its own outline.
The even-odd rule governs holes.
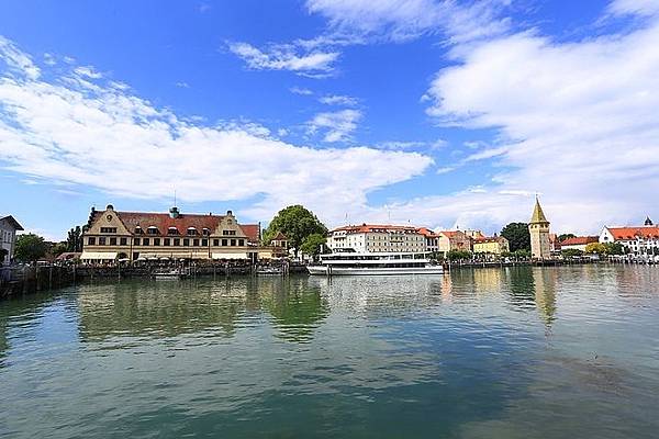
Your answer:
[[[0,437],[657,438],[659,268],[122,281],[0,302]]]

